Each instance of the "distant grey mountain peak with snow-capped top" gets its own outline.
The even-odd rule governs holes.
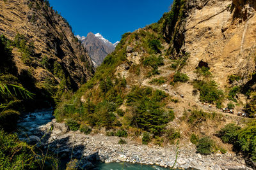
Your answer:
[[[93,34],[92,32],[89,32],[86,37],[79,35],[77,35],[76,37],[79,39],[79,41],[82,42],[84,48],[86,48],[95,67],[102,64],[104,58],[109,53],[113,52],[116,45],[118,45],[119,43],[119,41],[116,41],[116,43],[114,44],[111,43],[100,33]]]

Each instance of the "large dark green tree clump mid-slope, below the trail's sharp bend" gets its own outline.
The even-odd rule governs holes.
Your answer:
[[[131,125],[156,135],[163,132],[168,123],[168,114],[161,108],[165,97],[167,95],[161,90],[152,93],[150,88],[133,87],[126,101],[128,106],[134,108]]]

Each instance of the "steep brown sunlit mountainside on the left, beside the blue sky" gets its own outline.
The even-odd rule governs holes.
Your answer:
[[[24,41],[33,54],[22,57],[22,47],[13,48],[19,73],[26,70],[36,82],[46,79],[66,81],[71,89],[92,77],[94,69],[88,53],[74,37],[65,18],[52,10],[48,1],[0,1],[0,34]],[[21,40],[22,39],[22,40]]]

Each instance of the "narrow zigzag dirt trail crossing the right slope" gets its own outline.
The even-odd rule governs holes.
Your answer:
[[[150,88],[156,89],[156,90],[162,90],[162,91],[166,92],[166,94],[169,94],[170,96],[177,97],[179,99],[179,101],[182,101],[183,103],[189,104],[190,106],[196,106],[196,107],[200,108],[203,111],[216,112],[216,113],[221,113],[222,115],[227,115],[227,116],[231,116],[231,117],[244,118],[244,117],[240,117],[238,115],[234,115],[234,114],[230,114],[230,113],[224,113],[218,108],[209,108],[208,105],[204,106],[204,104],[202,104],[200,102],[196,102],[195,100],[193,101],[191,99],[186,98],[186,95],[184,96],[184,98],[182,98],[182,97],[179,96],[179,92],[176,92],[176,94],[174,93],[175,90],[173,90],[173,88],[168,88],[168,89],[172,89],[172,90],[167,91],[167,90],[165,90],[165,88],[162,85],[152,85],[152,84],[149,83],[154,78],[167,77],[170,74],[175,73],[175,71],[171,71],[170,69],[166,69],[167,67],[170,67],[171,65],[172,65],[172,63],[170,63],[170,60],[164,59],[164,66],[159,67],[160,74],[143,80],[141,82],[141,85],[143,85],[145,87],[150,87]],[[168,87],[170,87],[170,85],[168,85]],[[244,118],[244,119],[252,120],[253,118]]]

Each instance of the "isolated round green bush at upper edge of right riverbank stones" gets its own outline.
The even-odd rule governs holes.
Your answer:
[[[216,146],[214,141],[209,137],[203,137],[198,140],[196,145],[196,152],[208,155],[214,152]]]

